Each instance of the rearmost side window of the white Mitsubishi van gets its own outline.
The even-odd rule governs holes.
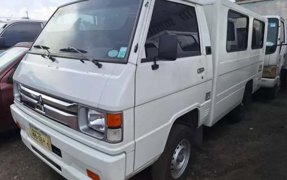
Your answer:
[[[252,29],[252,49],[260,49],[263,48],[264,43],[264,32],[265,31],[265,23],[253,20],[253,29]]]

